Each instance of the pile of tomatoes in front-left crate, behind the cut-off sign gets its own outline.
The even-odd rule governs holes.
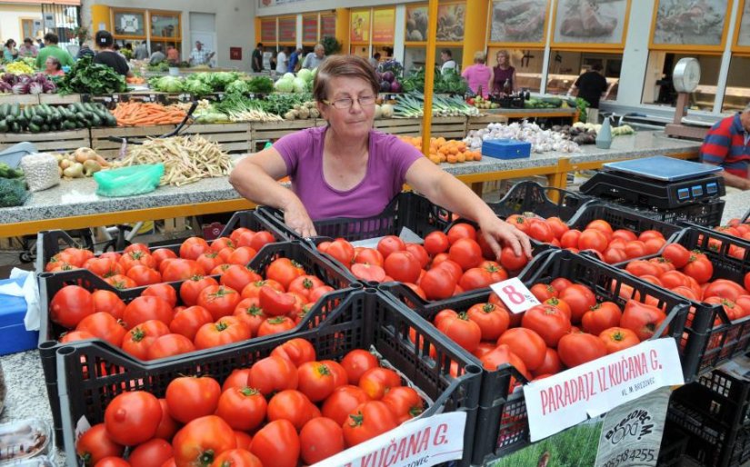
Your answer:
[[[220,385],[184,376],[165,398],[123,392],[76,442],[87,466],[296,467],[320,462],[419,415],[425,402],[374,354],[316,360],[304,339]],[[129,446],[127,459],[122,459]]]

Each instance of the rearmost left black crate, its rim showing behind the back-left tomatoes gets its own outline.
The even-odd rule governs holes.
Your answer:
[[[284,230],[276,227],[275,224],[268,222],[265,217],[258,215],[255,211],[238,211],[232,215],[229,222],[226,223],[220,237],[229,236],[236,228],[245,227],[250,230],[265,230],[274,235],[278,242],[288,242],[294,240]],[[201,236],[201,235],[194,235]],[[167,248],[175,253],[179,253],[180,244],[183,239],[169,239],[152,242],[148,244],[148,249],[152,252],[157,248]],[[212,243],[212,241],[208,241]],[[36,234],[36,264],[37,273],[45,272],[45,264],[49,263],[55,254],[60,253],[68,247],[83,248],[84,245],[75,241],[64,230],[43,230]],[[121,253],[121,252],[119,252]]]

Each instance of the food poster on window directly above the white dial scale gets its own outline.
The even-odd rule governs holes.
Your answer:
[[[727,0],[659,0],[655,45],[721,45]]]

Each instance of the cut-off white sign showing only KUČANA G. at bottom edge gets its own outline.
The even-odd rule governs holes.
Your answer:
[[[466,412],[449,412],[405,422],[398,428],[339,452],[312,467],[429,467],[464,456]]]

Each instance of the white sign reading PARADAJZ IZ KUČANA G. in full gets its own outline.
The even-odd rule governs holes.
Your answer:
[[[656,389],[684,384],[675,339],[635,347],[524,386],[531,441],[609,412]]]

